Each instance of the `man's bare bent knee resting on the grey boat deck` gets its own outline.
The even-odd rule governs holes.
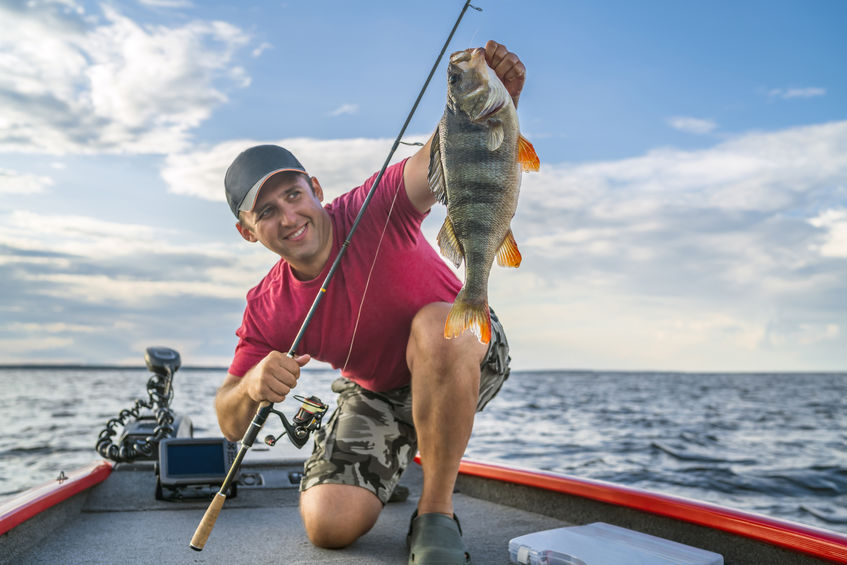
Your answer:
[[[382,503],[372,492],[351,485],[316,485],[300,495],[300,515],[309,540],[340,549],[365,535],[376,523]]]

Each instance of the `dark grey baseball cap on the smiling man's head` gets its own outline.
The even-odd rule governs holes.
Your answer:
[[[307,174],[291,151],[279,145],[256,145],[236,157],[224,177],[226,201],[235,217],[252,210],[267,180],[285,171]]]

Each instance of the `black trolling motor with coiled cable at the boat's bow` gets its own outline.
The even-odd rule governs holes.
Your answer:
[[[181,365],[179,353],[168,347],[148,347],[144,361],[152,373],[147,381],[149,398],[146,401],[138,399],[132,408],[121,410],[117,417],[106,423],[97,438],[97,453],[118,463],[139,458],[155,459],[161,440],[192,435],[191,420],[177,416],[171,410],[173,376]],[[142,408],[153,413],[142,415]],[[116,444],[112,438],[119,426],[123,427],[123,433]]]

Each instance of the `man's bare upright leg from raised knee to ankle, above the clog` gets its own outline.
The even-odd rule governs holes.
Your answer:
[[[412,322],[406,349],[424,477],[419,514],[453,515],[453,488],[473,429],[479,365],[488,349],[469,332],[445,339],[449,310],[449,303],[422,308]]]

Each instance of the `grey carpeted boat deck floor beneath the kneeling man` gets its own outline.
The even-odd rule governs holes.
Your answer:
[[[297,452],[295,452],[296,454]],[[302,458],[302,455],[300,455]],[[202,552],[188,542],[208,501],[166,502],[154,498],[152,464],[118,465],[108,480],[13,530],[0,562],[14,563],[405,563],[406,531],[420,494],[420,467],[410,465],[401,484],[404,502],[388,504],[374,528],[343,550],[314,547],[298,511],[299,492],[289,473],[302,462],[273,451],[251,451],[242,467],[260,473],[264,485],[240,486],[228,499]],[[509,563],[511,538],[561,527],[562,520],[457,493],[456,513],[475,563]],[[61,512],[61,515],[57,513]],[[20,530],[20,531],[19,531]],[[32,547],[15,539],[43,538]],[[31,543],[31,542],[29,542]]]

